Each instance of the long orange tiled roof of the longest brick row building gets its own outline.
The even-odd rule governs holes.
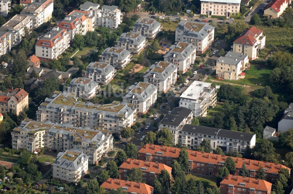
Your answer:
[[[146,144],[142,146],[139,150],[139,153],[150,153],[156,154],[156,152],[161,152],[160,155],[164,157],[173,157],[177,158],[179,156],[179,152],[181,149],[179,148],[172,148],[167,146],[156,146],[151,144]],[[188,151],[188,159],[193,160],[195,162],[202,162],[202,163],[212,163],[212,164],[219,164],[219,162],[225,162],[228,156],[222,156],[217,154],[205,153],[205,152],[197,152],[192,150]],[[275,164],[271,162],[263,162],[258,160],[250,160],[245,158],[237,158],[232,157],[236,163],[236,168],[240,169],[242,167],[243,162],[245,162],[246,166],[250,170],[257,170],[260,166],[264,169],[267,169],[267,173],[275,173],[278,174],[281,168],[287,168],[290,172],[290,168],[282,165],[282,164]]]

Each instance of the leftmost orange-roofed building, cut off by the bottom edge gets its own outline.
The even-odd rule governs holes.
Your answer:
[[[105,192],[109,192],[111,189],[122,188],[123,191],[131,194],[153,194],[154,187],[147,185],[146,183],[132,182],[132,181],[123,181],[119,179],[109,178],[103,182],[100,186],[105,189]]]

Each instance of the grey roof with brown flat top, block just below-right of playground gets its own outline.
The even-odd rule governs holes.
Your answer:
[[[164,56],[164,58],[168,58],[169,56],[176,56],[178,57],[179,60],[185,60],[188,56],[190,56],[191,53],[193,53],[193,51],[195,50],[196,46],[193,46],[193,44],[189,43],[188,46],[186,46],[183,51],[181,52],[176,52],[176,48],[181,48],[180,44],[186,44],[187,43],[183,43],[183,42],[178,42],[178,44],[176,45],[171,45],[169,48],[169,51],[166,53],[166,55]],[[175,48],[175,49],[173,49]],[[172,50],[173,49],[173,50]]]

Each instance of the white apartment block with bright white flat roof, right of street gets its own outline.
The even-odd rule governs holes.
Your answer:
[[[211,83],[194,81],[180,96],[180,107],[193,111],[194,117],[207,116],[207,108],[217,102],[217,90]]]

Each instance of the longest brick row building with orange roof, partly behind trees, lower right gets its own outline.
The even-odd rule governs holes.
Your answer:
[[[148,160],[152,162],[159,162],[171,166],[172,160],[176,160],[181,149],[167,146],[157,146],[147,144],[142,146],[138,152],[139,160]],[[216,176],[221,167],[224,166],[227,156],[188,151],[189,171],[197,174],[205,174]],[[236,174],[245,162],[247,169],[250,172],[250,177],[255,177],[255,172],[259,167],[263,167],[267,181],[274,182],[277,174],[281,168],[290,169],[282,164],[275,164],[270,162],[262,162],[257,160],[250,160],[245,158],[232,157],[236,163]]]

